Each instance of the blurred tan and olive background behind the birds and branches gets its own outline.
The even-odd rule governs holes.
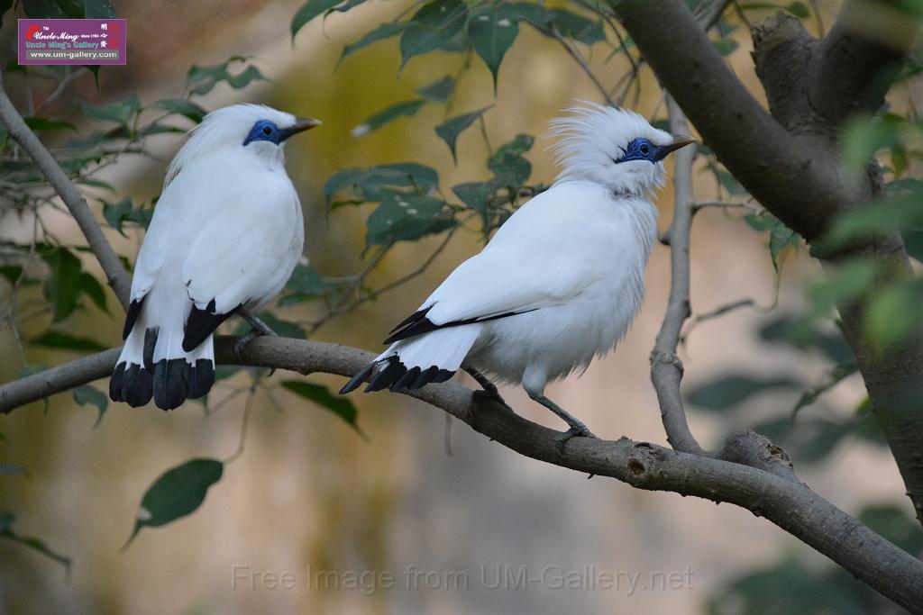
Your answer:
[[[325,278],[344,278],[369,262],[362,256],[369,210],[328,211],[321,189],[334,172],[420,160],[438,170],[448,195],[452,185],[489,176],[489,152],[479,131],[468,130],[459,137],[454,163],[432,130],[446,115],[440,105],[353,136],[354,127],[374,113],[454,74],[460,56],[427,54],[398,75],[401,54],[392,39],[338,64],[344,44],[410,5],[368,3],[316,19],[293,44],[290,23],[300,4],[120,1],[118,15],[128,20],[128,64],[103,68],[98,89],[89,73],[75,77],[66,96],[46,112],[86,134],[93,123],[79,112],[80,101],[104,103],[131,93],[140,101],[178,98],[190,65],[246,56],[266,80],[243,89],[219,84],[198,103],[210,110],[258,101],[323,120],[321,128],[288,146],[287,166],[305,209],[307,258]],[[818,4],[814,10],[829,23],[838,3]],[[7,41],[10,21],[5,19]],[[739,45],[728,62],[762,96],[746,29],[727,38]],[[593,70],[611,81],[629,69],[624,55],[607,59],[605,50],[582,51]],[[23,104],[25,78],[7,79]],[[918,90],[918,82],[900,86],[893,104],[918,100]],[[557,41],[521,28],[500,69],[496,97],[490,72],[475,58],[449,114],[494,105],[484,115],[493,145],[520,133],[539,137],[527,155],[533,163],[531,183],[548,184],[556,169],[541,136],[548,121],[574,99],[598,101],[599,95]],[[648,117],[665,117],[661,91],[650,74],[642,75],[637,101],[629,104]],[[176,135],[150,139],[150,155],[120,157],[101,177],[120,195],[137,202],[151,198],[181,143]],[[716,184],[704,164],[696,177],[697,199],[727,200],[726,186]],[[672,198],[667,185],[655,199],[662,229],[672,215]],[[800,409],[801,423],[791,419],[802,394],[826,382],[831,355],[838,350],[825,354],[779,343],[786,317],[805,310],[805,288],[819,267],[793,244],[779,254],[777,273],[766,233],[742,221],[744,213],[709,207],[693,228],[693,313],[748,299],[753,305],[704,320],[689,332],[680,356],[692,431],[702,444],[714,446],[739,427],[774,430],[812,489],[850,514],[875,507],[884,523],[902,530],[901,519],[911,511],[891,455],[874,433],[843,427],[853,425],[865,399],[859,378],[845,379]],[[45,224],[58,242],[82,243],[65,215],[53,213]],[[4,239],[26,241],[31,232],[29,217],[6,211],[0,218]],[[108,236],[119,254],[134,260],[141,231]],[[398,243],[365,283],[378,288],[401,278],[442,239]],[[313,337],[378,351],[385,332],[482,244],[476,225],[455,233],[423,274],[323,323]],[[581,377],[548,390],[601,437],[666,444],[648,355],[665,311],[668,257],[664,246],[654,247],[646,302],[617,351],[595,361]],[[85,270],[99,273],[89,254],[80,258]],[[19,301],[30,297],[41,297],[41,289],[23,289]],[[122,314],[114,296],[109,299],[110,313],[88,306],[58,328],[118,345]],[[310,328],[327,307],[297,303],[275,313]],[[19,337],[38,336],[50,320],[48,314],[21,320]],[[830,331],[824,334],[833,338]],[[2,382],[18,377],[24,360],[53,366],[78,356],[73,350],[26,346],[23,358],[6,324],[0,349]],[[404,396],[351,396],[364,440],[329,411],[273,385],[293,378],[300,377],[263,374],[260,383],[269,392],[261,386],[250,395],[253,373],[242,370],[216,386],[208,411],[191,402],[172,412],[114,405],[96,427],[96,409],[78,405],[70,394],[52,397],[47,408],[37,403],[0,419],[0,464],[12,468],[0,476],[0,509],[15,512],[18,534],[41,538],[73,562],[66,580],[52,560],[0,540],[0,612],[746,612],[745,594],[753,591],[801,592],[802,601],[820,592],[818,586],[863,593],[848,576],[833,578],[832,565],[809,547],[744,510],[637,491],[611,479],[588,480],[517,455]],[[461,379],[472,384],[467,376]],[[306,380],[331,390],[342,385],[342,379],[324,375]],[[95,383],[102,391],[107,385]],[[502,394],[530,420],[562,428],[520,390]],[[138,503],[164,470],[190,458],[234,455],[248,403],[244,452],[226,465],[202,506],[169,526],[144,529],[121,550]],[[523,571],[524,585],[518,576]],[[772,571],[763,585],[761,571]],[[271,574],[279,577],[276,585]],[[293,575],[294,583],[283,586],[283,574]],[[612,574],[615,586],[599,586],[600,574]],[[857,598],[857,604],[865,599]]]

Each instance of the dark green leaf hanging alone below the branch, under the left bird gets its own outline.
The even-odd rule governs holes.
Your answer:
[[[217,459],[191,459],[167,470],[148,488],[138,508],[135,528],[123,550],[142,527],[160,527],[193,513],[205,501],[211,485],[222,478],[224,464]]]

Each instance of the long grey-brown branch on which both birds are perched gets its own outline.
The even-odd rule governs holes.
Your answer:
[[[234,337],[219,337],[218,361],[234,362]],[[112,372],[117,349],[72,361],[0,386],[0,408],[41,399]],[[286,337],[258,337],[243,353],[246,365],[349,376],[374,357],[365,350]],[[81,382],[78,382],[81,381]],[[489,396],[461,384],[430,384],[412,396],[442,408],[513,451],[560,467],[607,476],[638,489],[672,491],[733,503],[801,539],[905,609],[923,605],[923,562],[872,532],[817,493],[758,467],[656,444],[575,438],[562,452],[559,432],[525,420]],[[152,410],[151,410],[152,411]]]

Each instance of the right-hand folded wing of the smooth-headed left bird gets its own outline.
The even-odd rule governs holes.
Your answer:
[[[301,250],[301,206],[287,177],[269,175],[226,195],[189,248],[181,275],[195,305],[184,348],[198,346],[238,307],[278,292],[292,273]]]

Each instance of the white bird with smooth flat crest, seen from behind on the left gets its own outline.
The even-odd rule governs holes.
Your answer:
[[[138,407],[153,396],[172,409],[209,392],[214,330],[282,290],[301,255],[301,204],[282,148],[318,124],[236,104],[193,130],[167,169],[135,263],[114,401]]]

